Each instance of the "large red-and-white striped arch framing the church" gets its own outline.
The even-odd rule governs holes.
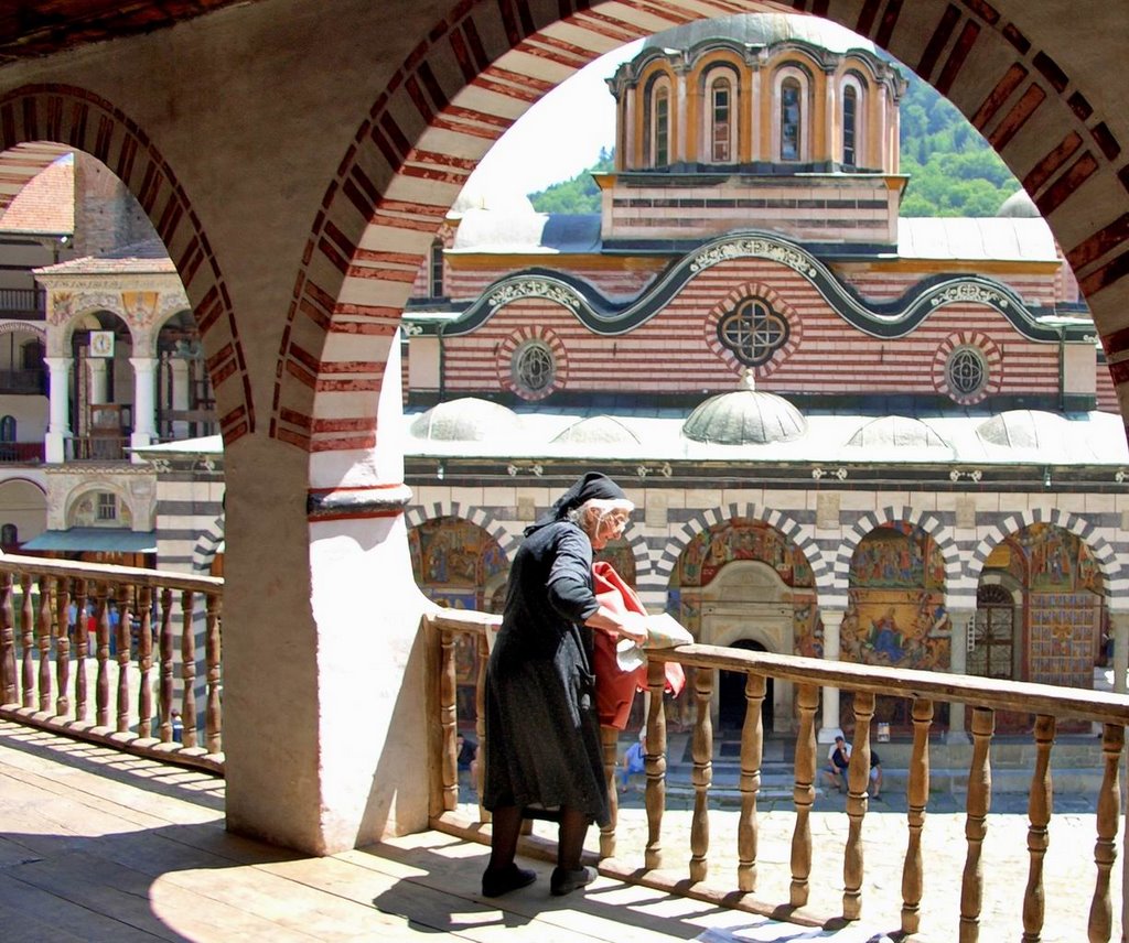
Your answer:
[[[325,191],[294,280],[270,434],[315,455],[375,448],[375,394],[411,284],[463,184],[516,115],[598,54],[640,36],[779,6],[763,0],[454,6],[373,103]],[[826,17],[898,56],[948,96],[1021,175],[1065,247],[1114,381],[1129,398],[1129,328],[1120,328],[1129,306],[1129,148],[1110,130],[1117,122],[1100,111],[1101,89],[1071,81],[1053,49],[1027,38],[1022,18],[1007,19],[989,2],[793,0],[788,6]],[[312,484],[321,484],[333,467],[312,464]]]

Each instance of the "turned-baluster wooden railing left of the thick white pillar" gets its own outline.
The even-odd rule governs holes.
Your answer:
[[[221,773],[222,600],[215,576],[0,556],[0,717]]]

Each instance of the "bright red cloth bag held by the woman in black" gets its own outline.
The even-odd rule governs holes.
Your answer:
[[[614,567],[598,559],[592,565],[596,598],[609,609],[647,615],[638,593],[629,587]],[[596,673],[596,711],[603,726],[623,730],[631,714],[631,702],[637,690],[647,689],[647,666],[633,671],[624,671],[615,659],[615,637],[594,629],[595,653],[593,670]],[[685,687],[686,676],[682,666],[668,661],[663,666],[666,673],[666,691],[677,697]]]

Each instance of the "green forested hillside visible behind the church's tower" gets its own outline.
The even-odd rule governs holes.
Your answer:
[[[996,215],[1019,182],[964,115],[908,69],[902,73],[909,89],[901,102],[901,169],[910,183],[901,215]],[[612,166],[613,153],[604,149],[587,170],[531,193],[530,200],[543,213],[598,213],[599,190],[592,174]]]

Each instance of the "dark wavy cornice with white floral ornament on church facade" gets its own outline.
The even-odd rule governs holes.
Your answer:
[[[724,262],[764,258],[786,265],[815,288],[844,320],[874,337],[904,337],[930,312],[946,305],[987,305],[999,311],[1023,336],[1057,342],[1084,341],[1094,335],[1089,325],[1054,327],[1039,324],[1023,299],[1007,285],[983,275],[934,275],[921,280],[900,298],[870,303],[844,284],[803,246],[758,230],[730,232],[675,261],[633,301],[616,303],[593,285],[563,272],[527,268],[491,284],[458,317],[444,327],[444,335],[469,334],[515,301],[540,298],[571,311],[595,334],[614,336],[633,331],[655,317],[691,280]]]

